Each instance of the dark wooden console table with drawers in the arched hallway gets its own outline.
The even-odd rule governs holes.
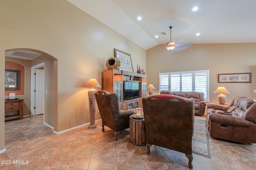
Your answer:
[[[23,119],[23,100],[5,100],[4,112],[17,111],[18,114],[5,116],[4,120]]]

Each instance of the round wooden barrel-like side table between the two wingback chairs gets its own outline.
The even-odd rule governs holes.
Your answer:
[[[130,115],[130,142],[137,146],[146,146],[147,135],[145,119],[136,119]]]

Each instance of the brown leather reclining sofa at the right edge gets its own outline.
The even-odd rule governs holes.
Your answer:
[[[229,106],[208,104],[211,137],[240,143],[256,143],[256,100],[238,96]]]

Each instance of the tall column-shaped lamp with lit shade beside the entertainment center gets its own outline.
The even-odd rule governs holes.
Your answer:
[[[89,129],[95,129],[97,126],[95,125],[95,117],[96,117],[96,98],[95,93],[97,92],[94,87],[101,87],[98,81],[95,78],[91,78],[84,87],[91,87],[88,90],[88,98],[89,98],[89,108],[90,108],[90,125]]]

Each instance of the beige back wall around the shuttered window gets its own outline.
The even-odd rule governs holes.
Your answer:
[[[147,50],[148,84],[156,88],[158,94],[158,73],[192,70],[209,70],[210,102],[218,103],[218,94],[213,92],[224,86],[227,103],[236,96],[256,98],[256,43],[234,44],[193,44],[192,47],[179,51],[168,51],[165,45],[157,45]],[[218,74],[251,72],[251,83],[218,83]]]

